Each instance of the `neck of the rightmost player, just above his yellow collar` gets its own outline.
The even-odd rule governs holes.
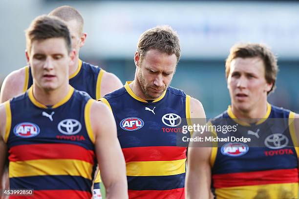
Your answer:
[[[232,103],[232,112],[237,119],[244,119],[244,121],[246,120],[248,123],[254,123],[265,117],[267,113],[267,101],[262,101],[260,104],[252,107],[248,111],[242,111]]]

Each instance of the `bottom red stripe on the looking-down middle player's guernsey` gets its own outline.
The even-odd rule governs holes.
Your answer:
[[[185,199],[185,188],[171,190],[128,190],[129,199]]]

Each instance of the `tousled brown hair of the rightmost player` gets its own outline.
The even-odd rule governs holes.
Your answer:
[[[273,83],[271,93],[275,89],[275,81],[278,73],[277,58],[271,50],[260,43],[237,43],[231,50],[225,63],[225,74],[228,78],[231,68],[231,62],[235,58],[254,58],[258,57],[264,62],[265,66],[265,79],[268,83]]]

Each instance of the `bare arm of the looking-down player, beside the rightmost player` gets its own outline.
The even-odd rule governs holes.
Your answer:
[[[206,117],[202,104],[198,100],[191,99],[190,109],[193,121],[205,125]],[[196,136],[202,137],[202,134],[194,131],[192,137]],[[186,172],[187,199],[209,199],[211,197],[211,151],[210,147],[200,147],[198,143],[190,142]]]

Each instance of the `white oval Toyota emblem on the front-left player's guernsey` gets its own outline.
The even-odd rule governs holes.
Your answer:
[[[75,135],[81,130],[81,123],[76,119],[64,119],[59,122],[58,130],[65,135]]]

